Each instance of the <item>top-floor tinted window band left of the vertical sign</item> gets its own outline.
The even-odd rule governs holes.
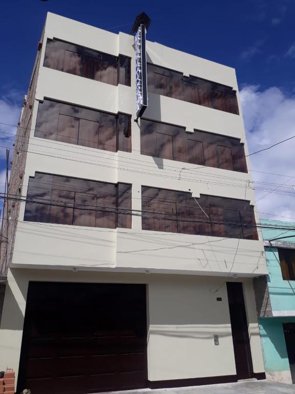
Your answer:
[[[131,86],[131,59],[59,40],[47,40],[44,66],[110,85]]]

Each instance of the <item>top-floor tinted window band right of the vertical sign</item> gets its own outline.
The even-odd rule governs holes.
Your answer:
[[[195,76],[147,64],[149,92],[173,97],[220,111],[239,114],[236,91],[233,88],[205,81]]]

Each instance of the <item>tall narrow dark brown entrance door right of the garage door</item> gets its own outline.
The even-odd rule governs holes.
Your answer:
[[[243,285],[239,282],[227,282],[226,287],[237,378],[249,379],[254,375]]]

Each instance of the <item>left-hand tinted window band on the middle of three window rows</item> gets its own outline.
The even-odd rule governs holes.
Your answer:
[[[44,100],[38,106],[35,136],[111,152],[131,152],[131,115]]]

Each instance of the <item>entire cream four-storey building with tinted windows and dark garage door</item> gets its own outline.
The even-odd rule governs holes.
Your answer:
[[[48,13],[17,130],[0,369],[34,394],[264,379],[235,70]],[[7,210],[5,209],[5,212]]]

